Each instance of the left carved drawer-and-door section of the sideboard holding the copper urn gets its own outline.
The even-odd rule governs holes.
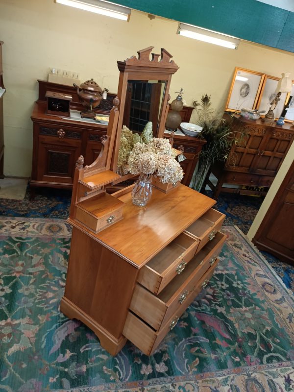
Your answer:
[[[39,126],[36,178],[33,180],[73,184],[75,162],[81,155],[81,132]]]

